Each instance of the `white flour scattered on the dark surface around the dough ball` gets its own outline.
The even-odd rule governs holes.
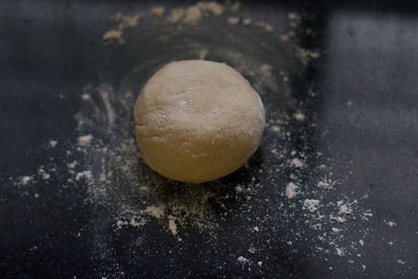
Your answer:
[[[235,5],[236,3],[238,3],[238,5]],[[239,2],[235,2],[235,4],[231,6],[226,4],[224,6],[223,4],[216,2],[196,3],[192,6],[185,6],[185,8],[172,9],[168,15],[168,19],[172,23],[178,22],[180,24],[192,25],[199,22],[205,16],[222,15],[224,8],[227,8],[230,11],[235,9],[233,8],[235,5],[238,10]],[[161,24],[161,22],[165,20],[163,17],[164,12],[165,10],[162,6],[152,8],[150,10],[150,15],[153,17],[161,17],[160,20],[153,20],[153,22],[159,22],[158,24]],[[228,23],[238,24],[242,16],[243,15],[230,16],[227,19]],[[300,16],[297,14],[289,14],[288,17],[291,22],[294,22],[294,24],[298,24],[300,21]],[[272,26],[268,23],[257,21],[253,22],[249,17],[247,20],[249,20],[249,22],[246,24],[251,24],[250,28],[262,27],[266,31],[273,30]],[[116,13],[114,17],[112,17],[112,21],[116,22],[118,26],[115,29],[110,30],[115,33],[107,33],[107,38],[105,40],[121,40],[121,42],[125,43],[125,40],[123,39],[123,31],[128,27],[136,27],[139,24],[140,17],[126,17],[122,13]],[[242,24],[245,24],[244,20],[242,20]],[[286,41],[288,41],[293,40],[295,33],[289,32],[286,34],[278,34],[278,36],[281,36],[282,40],[284,40],[283,38],[286,36]],[[199,46],[199,48],[201,48],[201,46]],[[203,56],[202,59],[204,59],[208,53],[206,48],[203,50],[205,50],[205,52],[202,52],[202,54],[199,52],[199,56]],[[301,56],[304,56],[304,61],[309,61],[309,59],[319,57],[319,52],[303,50],[302,48],[299,48],[297,52]],[[196,52],[194,52],[194,54],[196,54]],[[237,61],[239,61],[239,63],[243,63],[242,59]],[[257,66],[254,73],[250,73],[248,70],[245,72],[244,66],[242,69],[244,69],[243,71],[247,75],[263,77],[263,80],[265,81],[270,81],[276,76],[277,80],[281,79],[284,82],[288,81],[288,69],[283,69],[277,73],[277,70],[274,69],[273,71],[272,65],[268,63],[264,63],[260,66],[260,63],[258,62],[254,63],[254,65]],[[276,66],[275,63],[274,66]],[[291,84],[284,84],[284,86],[291,86]],[[311,91],[311,89],[309,89],[309,92],[311,92],[310,96],[314,98],[316,94],[312,93],[313,91]],[[91,98],[91,96],[100,96],[101,100],[100,98]],[[265,223],[263,222],[265,222],[265,220],[270,220],[273,214],[277,214],[274,215],[274,218],[281,218],[284,222],[294,222],[294,213],[300,211],[300,208],[295,206],[296,203],[294,201],[296,200],[297,202],[302,202],[302,209],[311,213],[316,212],[316,214],[303,214],[302,217],[298,217],[299,219],[297,219],[297,222],[294,224],[296,229],[300,229],[300,231],[292,231],[288,234],[285,233],[286,235],[283,236],[286,238],[286,243],[289,246],[295,247],[293,246],[293,243],[295,243],[295,241],[300,241],[299,236],[296,236],[304,234],[304,225],[307,225],[312,232],[318,232],[318,239],[322,241],[323,244],[320,245],[322,247],[317,246],[314,249],[315,251],[323,252],[323,255],[327,255],[327,253],[332,253],[332,251],[336,250],[337,255],[341,257],[350,257],[350,255],[356,255],[355,253],[353,254],[353,250],[350,249],[359,249],[360,246],[363,246],[364,241],[362,239],[358,241],[358,243],[355,241],[355,245],[353,245],[355,248],[352,248],[350,245],[342,246],[344,245],[344,234],[349,232],[348,228],[350,228],[350,221],[353,220],[355,216],[361,217],[361,220],[368,220],[367,218],[370,218],[373,214],[369,211],[362,212],[364,209],[358,212],[358,207],[348,202],[343,202],[342,200],[337,202],[338,208],[335,207],[335,202],[326,202],[324,195],[329,195],[330,193],[325,194],[324,191],[320,191],[318,188],[326,190],[331,189],[334,186],[334,182],[330,181],[330,179],[322,179],[323,177],[327,177],[327,174],[322,173],[325,172],[325,169],[327,169],[327,166],[324,164],[323,167],[314,168],[314,171],[309,173],[311,176],[315,175],[314,179],[316,180],[314,181],[319,181],[317,184],[318,188],[312,185],[304,185],[301,168],[306,167],[303,169],[303,172],[310,171],[311,167],[308,167],[309,162],[311,162],[309,160],[310,155],[305,156],[300,150],[292,151],[291,158],[293,159],[291,159],[289,164],[287,156],[289,151],[295,148],[294,146],[291,146],[295,139],[294,135],[289,133],[288,125],[289,123],[295,122],[293,119],[296,121],[304,121],[305,115],[302,114],[302,112],[297,112],[293,115],[279,115],[270,112],[270,122],[268,123],[268,130],[266,130],[270,136],[274,136],[274,138],[280,139],[281,141],[273,142],[271,145],[264,146],[266,150],[271,151],[270,153],[267,153],[267,156],[271,156],[271,158],[273,158],[272,161],[274,163],[272,164],[274,165],[274,168],[272,168],[271,172],[269,170],[268,174],[265,174],[268,176],[268,179],[264,179],[263,181],[265,183],[270,183],[269,179],[274,181],[274,179],[282,172],[282,169],[289,171],[291,174],[288,181],[294,181],[289,182],[286,185],[286,197],[288,199],[292,199],[289,201],[283,195],[283,186],[277,187],[277,192],[274,193],[274,195],[276,195],[275,197],[270,195],[261,197],[261,195],[258,195],[258,189],[266,186],[266,184],[258,181],[258,176],[256,176],[256,179],[253,177],[253,179],[250,179],[251,181],[245,181],[239,183],[238,185],[236,183],[232,185],[222,185],[223,182],[216,181],[210,185],[209,190],[207,187],[205,188],[201,186],[187,186],[187,190],[185,190],[184,185],[155,176],[153,172],[144,167],[144,165],[139,165],[139,162],[141,162],[139,159],[141,154],[134,143],[132,135],[129,133],[121,133],[120,130],[115,131],[114,129],[117,129],[118,127],[116,127],[116,125],[115,127],[111,127],[110,125],[114,121],[117,121],[117,123],[124,123],[124,121],[121,121],[122,119],[118,119],[118,117],[121,117],[119,112],[120,110],[124,110],[124,107],[127,107],[127,111],[129,111],[129,113],[125,113],[125,115],[130,116],[130,113],[132,113],[132,107],[126,104],[132,104],[136,96],[129,92],[125,95],[118,96],[121,97],[121,100],[112,98],[112,96],[116,96],[116,92],[113,91],[111,87],[106,86],[98,86],[97,91],[96,88],[94,88],[91,91],[87,90],[86,93],[82,94],[82,100],[90,100],[88,102],[84,102],[84,106],[94,106],[95,109],[100,110],[101,114],[98,116],[100,121],[98,121],[98,123],[103,123],[103,116],[104,118],[107,118],[107,124],[109,124],[109,126],[106,128],[109,130],[101,132],[109,133],[108,140],[110,140],[111,143],[109,145],[106,144],[106,146],[103,144],[100,146],[100,140],[102,140],[100,138],[97,140],[97,143],[95,141],[94,146],[91,145],[93,136],[90,133],[93,133],[95,128],[97,128],[93,121],[90,124],[93,128],[90,130],[88,128],[80,130],[79,133],[82,136],[78,138],[78,146],[89,146],[89,149],[92,151],[91,153],[94,153],[94,155],[82,153],[82,156],[85,156],[82,160],[82,158],[75,158],[75,153],[72,153],[72,151],[68,151],[67,156],[70,163],[68,163],[67,166],[68,175],[70,175],[69,181],[79,181],[82,179],[86,179],[88,181],[88,193],[91,195],[92,202],[116,207],[122,205],[129,208],[128,210],[119,208],[115,210],[114,224],[116,224],[118,229],[125,226],[140,227],[149,222],[151,218],[156,218],[158,219],[158,222],[164,226],[164,229],[160,231],[163,233],[171,232],[173,235],[178,235],[183,233],[183,229],[181,228],[193,226],[198,228],[199,232],[203,232],[203,229],[206,229],[205,232],[212,234],[212,232],[216,232],[219,220],[225,221],[228,216],[231,216],[231,214],[235,214],[235,217],[242,216],[242,218],[247,218],[248,216],[245,214],[252,209],[248,205],[249,203],[246,204],[245,201],[257,199],[260,201],[265,200],[266,202],[270,202],[275,197],[279,197],[284,198],[279,201],[279,208],[281,210],[274,213],[270,211],[268,214],[265,214],[265,212],[259,214],[256,213],[256,226],[254,227],[254,225],[249,225],[249,227],[246,228],[247,232],[252,232],[257,236],[265,233],[265,231],[268,231],[269,228],[265,229]],[[300,105],[297,109],[293,107],[291,111],[294,112],[295,110],[304,111],[302,105]],[[91,115],[92,111],[93,110],[86,110],[84,112],[84,118],[78,119],[79,123],[82,121],[85,121],[84,123],[88,123],[88,121],[94,119],[95,116]],[[133,117],[130,119],[133,119]],[[129,121],[126,122],[126,127],[123,126],[124,124],[121,124],[121,130],[130,130],[132,128]],[[95,137],[98,137],[95,133],[93,134]],[[302,135],[302,137],[303,136],[304,135]],[[290,150],[288,150],[289,148]],[[86,149],[82,150],[85,151]],[[320,158],[319,153],[320,152],[317,153],[317,158]],[[306,154],[309,154],[309,152]],[[102,156],[102,158],[100,158],[100,156]],[[295,156],[298,158],[294,158]],[[98,157],[100,160],[98,160]],[[91,160],[91,162],[84,165],[84,159],[86,158]],[[77,159],[79,163],[77,163],[77,160],[75,159]],[[92,169],[92,171],[76,172],[76,167],[77,169]],[[98,172],[96,172],[95,169],[98,169]],[[251,169],[251,167],[248,167],[248,169]],[[52,173],[51,169],[47,170]],[[316,176],[316,172],[319,172],[318,176]],[[45,174],[47,173],[45,172]],[[42,174],[40,174],[40,176],[42,176]],[[27,184],[31,180],[31,176],[23,176],[20,179],[20,183]],[[296,184],[299,187],[296,186]],[[303,191],[297,192],[298,188],[301,188]],[[125,192],[123,192],[123,190],[125,190]],[[110,194],[108,194],[108,191]],[[335,192],[336,191],[332,193],[334,194]],[[306,199],[307,196],[314,197],[315,199]],[[130,202],[131,199],[134,202]],[[231,199],[233,202],[231,202]],[[339,199],[344,199],[346,201],[350,200],[345,196],[341,196]],[[219,215],[219,213],[214,213],[213,208],[216,207],[213,205],[214,203],[217,204],[217,207],[222,209],[222,214]],[[148,204],[160,204],[160,206],[148,206]],[[238,206],[240,206],[240,210],[238,211],[235,208],[229,209],[228,204],[239,204]],[[327,212],[328,210],[331,212]],[[341,216],[335,216],[336,214]],[[268,218],[265,216],[268,216]],[[118,220],[116,220],[116,218]],[[387,224],[389,225],[389,223]],[[260,228],[263,229],[260,230]],[[215,236],[212,237],[215,239]],[[183,241],[183,239],[179,238],[178,241]],[[256,245],[251,244],[248,251],[251,255],[255,256],[258,255],[256,251],[261,250],[258,250]],[[235,255],[235,257],[236,256],[238,255]],[[237,261],[242,265],[251,264],[251,259],[247,259],[242,256],[238,257]],[[262,263],[263,262],[261,261],[257,262],[260,267]]]

